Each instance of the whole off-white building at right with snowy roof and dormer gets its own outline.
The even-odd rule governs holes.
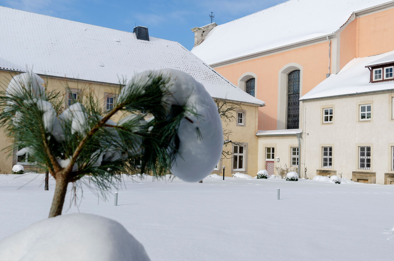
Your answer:
[[[394,51],[355,58],[301,97],[307,176],[394,184]]]

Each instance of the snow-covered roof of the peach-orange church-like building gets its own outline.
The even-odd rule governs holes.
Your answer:
[[[212,29],[191,52],[208,64],[329,35],[353,12],[388,0],[290,0]]]

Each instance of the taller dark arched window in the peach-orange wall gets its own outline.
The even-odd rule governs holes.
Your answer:
[[[299,77],[299,70],[294,70],[288,75],[287,129],[298,129],[299,126]]]

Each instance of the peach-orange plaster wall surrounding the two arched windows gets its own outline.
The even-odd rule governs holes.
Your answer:
[[[238,79],[244,73],[255,73],[257,75],[256,97],[266,102],[266,106],[261,107],[258,112],[258,129],[276,130],[279,70],[288,63],[298,63],[303,67],[301,97],[326,78],[329,60],[328,45],[328,41],[325,41],[253,60],[217,67],[215,70],[235,85],[238,85]]]

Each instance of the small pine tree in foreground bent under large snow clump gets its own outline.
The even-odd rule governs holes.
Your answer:
[[[217,106],[187,73],[139,73],[121,88],[105,114],[91,89],[61,112],[63,95],[48,91],[44,83],[34,73],[14,76],[0,93],[0,127],[8,138],[18,140],[17,154],[28,152],[38,168],[56,180],[50,216],[61,214],[68,183],[84,175],[91,175],[89,183],[105,198],[106,190],[123,182],[115,174],[158,176],[171,170],[184,181],[197,182],[221,157]],[[141,110],[152,117],[145,121],[136,114]],[[111,118],[118,112],[124,116],[115,123]]]

